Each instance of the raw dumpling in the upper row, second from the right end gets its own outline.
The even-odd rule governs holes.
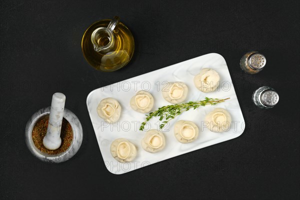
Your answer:
[[[170,103],[180,103],[184,101],[188,88],[184,82],[168,82],[162,89],[162,96]]]

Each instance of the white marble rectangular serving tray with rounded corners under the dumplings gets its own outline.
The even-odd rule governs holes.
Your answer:
[[[199,73],[201,68],[215,69],[220,75],[218,88],[209,93],[199,91],[193,84],[193,77]],[[200,106],[197,109],[183,112],[170,121],[169,125],[162,129],[165,136],[165,148],[157,153],[150,153],[142,149],[141,139],[145,131],[139,131],[140,123],[145,119],[145,114],[134,111],[130,105],[130,98],[138,90],[149,91],[154,97],[152,110],[160,106],[170,104],[161,94],[161,89],[166,86],[166,81],[182,81],[188,87],[186,101],[202,100],[205,96],[212,98],[227,98],[225,102],[214,106]],[[101,99],[106,97],[115,98],[121,105],[121,116],[119,121],[108,124],[97,114],[96,108]],[[197,150],[212,144],[233,139],[242,134],[245,123],[233,88],[231,77],[225,59],[217,53],[209,53],[179,62],[155,71],[151,71],[136,77],[100,87],[91,91],[86,99],[87,109],[93,125],[98,145],[108,171],[121,174],[138,169],[177,155]],[[228,131],[217,133],[211,132],[205,127],[204,117],[214,108],[225,108],[232,117],[231,128]],[[198,138],[191,143],[180,143],[173,133],[173,126],[177,120],[191,120],[199,127]],[[145,129],[157,129],[158,118],[153,118],[146,124]],[[126,138],[132,142],[137,149],[137,155],[131,162],[121,163],[110,154],[110,144],[116,138]]]

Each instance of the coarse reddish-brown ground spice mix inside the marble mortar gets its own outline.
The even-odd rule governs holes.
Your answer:
[[[41,152],[51,154],[51,155],[66,151],[66,149],[71,145],[73,139],[73,131],[71,128],[71,124],[65,118],[62,119],[61,132],[60,132],[61,145],[59,146],[59,148],[55,150],[49,150],[46,147],[44,147],[42,143],[42,140],[47,133],[48,121],[49,121],[49,115],[39,119],[35,123],[32,129],[32,140],[34,145]]]

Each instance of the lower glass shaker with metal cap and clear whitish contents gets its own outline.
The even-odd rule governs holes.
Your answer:
[[[252,100],[257,107],[269,109],[278,103],[279,95],[272,87],[262,86],[253,92]]]

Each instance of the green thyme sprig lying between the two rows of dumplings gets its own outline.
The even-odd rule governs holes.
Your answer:
[[[164,125],[171,119],[175,118],[175,116],[181,114],[183,111],[187,111],[190,108],[196,109],[200,105],[205,106],[206,104],[215,105],[220,102],[224,102],[229,98],[208,98],[205,97],[204,100],[199,101],[189,101],[185,103],[173,104],[173,105],[165,105],[159,107],[157,110],[146,114],[146,119],[141,123],[139,130],[143,130],[147,121],[149,121],[153,117],[159,117],[159,121],[162,123],[159,125],[159,128],[162,129]]]

